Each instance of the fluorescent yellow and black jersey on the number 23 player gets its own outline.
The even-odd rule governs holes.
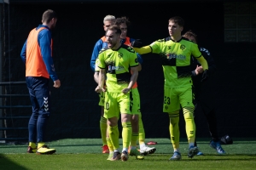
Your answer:
[[[150,44],[150,48],[152,48],[152,53],[160,54],[166,88],[178,88],[192,84],[190,56],[201,57],[197,44],[184,37],[178,42],[174,42],[171,37],[166,37]]]

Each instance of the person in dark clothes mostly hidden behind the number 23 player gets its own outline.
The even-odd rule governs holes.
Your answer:
[[[187,31],[183,34],[183,37],[188,38],[192,42],[198,43],[197,35],[193,31]],[[217,70],[214,60],[210,52],[206,48],[200,48],[201,54],[207,59],[207,63],[209,66],[208,74],[211,77],[212,74]],[[221,147],[219,138],[218,138],[218,128],[217,128],[217,118],[216,111],[214,107],[213,100],[213,91],[211,88],[211,78],[207,78],[204,81],[201,81],[202,73],[204,72],[201,64],[192,57],[192,80],[195,89],[195,111],[194,116],[198,115],[199,109],[201,106],[201,111],[207,118],[207,124],[209,128],[209,132],[211,134],[212,140],[210,142],[210,146],[217,150],[218,154],[225,154],[225,151]],[[196,142],[195,142],[196,146]],[[203,155],[200,151],[197,155]]]

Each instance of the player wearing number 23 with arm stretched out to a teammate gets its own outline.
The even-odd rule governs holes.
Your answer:
[[[180,160],[179,150],[179,111],[180,105],[183,109],[183,116],[186,122],[186,133],[189,142],[188,156],[192,158],[198,152],[195,143],[195,122],[194,104],[192,94],[192,80],[190,70],[190,56],[201,63],[204,74],[207,78],[207,60],[203,58],[197,44],[182,37],[184,21],[181,17],[175,16],[169,20],[168,31],[170,37],[160,39],[145,47],[134,46],[134,50],[139,54],[160,54],[165,76],[164,105],[163,112],[167,112],[170,117],[170,135],[174,149],[170,160]]]

